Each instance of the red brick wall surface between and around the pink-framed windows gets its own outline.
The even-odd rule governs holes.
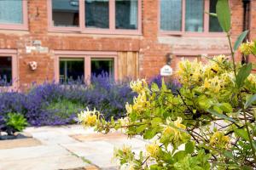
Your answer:
[[[186,41],[186,37],[179,39],[161,40],[158,36],[158,0],[143,0],[143,36],[122,35],[91,35],[84,33],[58,33],[48,31],[48,0],[28,0],[28,31],[0,30],[0,48],[13,48],[18,51],[20,85],[27,86],[32,82],[44,82],[54,79],[54,51],[55,50],[83,50],[83,51],[137,51],[139,53],[140,77],[152,77],[160,73],[160,68],[166,64],[166,54],[177,48],[190,48],[197,51],[227,50],[227,42],[215,37],[196,37],[196,41]],[[232,0],[232,35],[236,37],[241,32],[242,6],[241,0]],[[252,3],[252,11],[256,11],[256,1]],[[252,14],[251,37],[255,37],[256,13]],[[165,38],[165,37],[164,37]],[[177,37],[173,37],[177,38]],[[26,46],[32,45],[33,40],[40,40],[43,47],[49,48],[49,53],[33,52],[26,54]],[[165,42],[166,41],[166,42]],[[177,42],[175,42],[177,41]],[[188,42],[188,43],[187,43]],[[203,46],[203,48],[201,48]],[[205,47],[204,47],[205,46]],[[31,71],[30,61],[38,62],[38,70]],[[175,67],[173,59],[172,66]]]

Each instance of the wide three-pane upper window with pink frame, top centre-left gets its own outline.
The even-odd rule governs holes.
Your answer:
[[[139,34],[142,0],[49,0],[50,31]]]

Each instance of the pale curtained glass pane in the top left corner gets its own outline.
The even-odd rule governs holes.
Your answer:
[[[0,23],[1,24],[22,24],[23,23],[22,0],[1,0],[0,1]]]

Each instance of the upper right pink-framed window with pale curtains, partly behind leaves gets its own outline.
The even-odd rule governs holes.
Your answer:
[[[185,32],[221,32],[215,13],[218,0],[160,0],[160,31],[182,34]]]

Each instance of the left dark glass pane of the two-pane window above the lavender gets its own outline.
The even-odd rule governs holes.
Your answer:
[[[84,82],[84,59],[60,59],[60,83]]]

